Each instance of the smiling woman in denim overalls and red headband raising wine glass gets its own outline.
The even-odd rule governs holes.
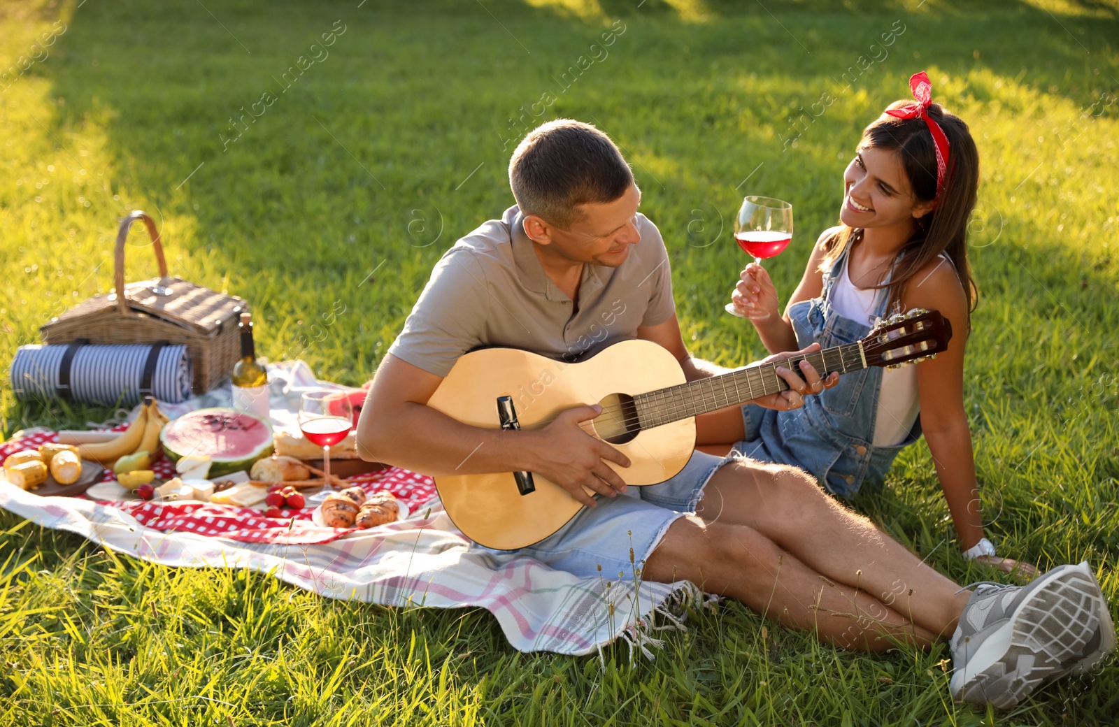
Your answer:
[[[923,433],[963,556],[1034,574],[1031,565],[996,557],[984,537],[963,408],[963,350],[977,298],[967,227],[978,152],[967,124],[932,103],[925,74],[914,75],[910,87],[915,103],[891,104],[863,132],[843,174],[840,225],[819,236],[784,315],[758,259],[742,271],[727,310],[749,318],[775,352],[814,341],[825,348],[853,343],[876,319],[935,309],[952,327],[948,349],[896,370],[844,375],[802,408],[746,405],[708,415],[697,422],[697,449],[725,454],[733,446],[753,459],[797,465],[828,491],[849,497],[864,481],[881,484],[897,453]],[[791,233],[791,209],[789,216]]]

